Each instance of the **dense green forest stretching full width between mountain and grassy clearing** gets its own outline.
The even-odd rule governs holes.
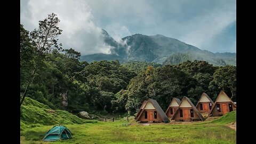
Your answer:
[[[62,30],[54,13],[39,28],[20,25],[20,92],[52,109],[71,113],[104,111],[136,113],[143,100],[153,98],[165,109],[173,97],[196,104],[203,92],[213,100],[220,90],[236,101],[236,67],[206,61],[174,65],[149,62],[79,61],[80,52],[58,43]]]

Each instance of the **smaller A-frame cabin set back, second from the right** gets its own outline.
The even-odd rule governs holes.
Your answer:
[[[196,108],[200,113],[209,113],[214,105],[213,100],[203,92],[196,104]]]

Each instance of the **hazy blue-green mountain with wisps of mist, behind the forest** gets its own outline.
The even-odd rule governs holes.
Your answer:
[[[148,61],[171,65],[185,60],[205,60],[213,65],[236,65],[236,53],[213,53],[163,35],[135,34],[116,42],[106,30],[102,30],[102,34],[105,36],[105,43],[113,47],[111,54],[83,55],[81,61]]]

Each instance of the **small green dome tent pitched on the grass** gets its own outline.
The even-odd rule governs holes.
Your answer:
[[[52,129],[45,134],[43,141],[57,141],[70,138],[72,137],[71,132],[68,130],[68,128],[63,125],[57,125],[53,126]]]

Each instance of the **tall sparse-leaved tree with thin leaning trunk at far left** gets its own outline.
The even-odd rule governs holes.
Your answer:
[[[44,19],[43,21],[39,21],[39,28],[35,29],[30,33],[31,43],[36,47],[36,51],[35,51],[36,59],[35,59],[35,65],[33,66],[34,69],[31,72],[31,77],[27,81],[25,92],[22,95],[20,107],[22,105],[22,102],[25,100],[30,83],[33,81],[37,70],[41,67],[43,63],[45,54],[50,53],[51,50],[53,49],[57,49],[57,50],[62,49],[61,44],[58,45],[57,43],[58,42],[57,37],[61,34],[61,31],[62,31],[58,27],[59,22],[60,20],[57,18],[56,14],[54,13],[49,14],[46,19]],[[23,34],[24,33],[22,33],[21,31],[21,35]],[[20,47],[21,50],[23,49],[22,47],[23,46]]]

